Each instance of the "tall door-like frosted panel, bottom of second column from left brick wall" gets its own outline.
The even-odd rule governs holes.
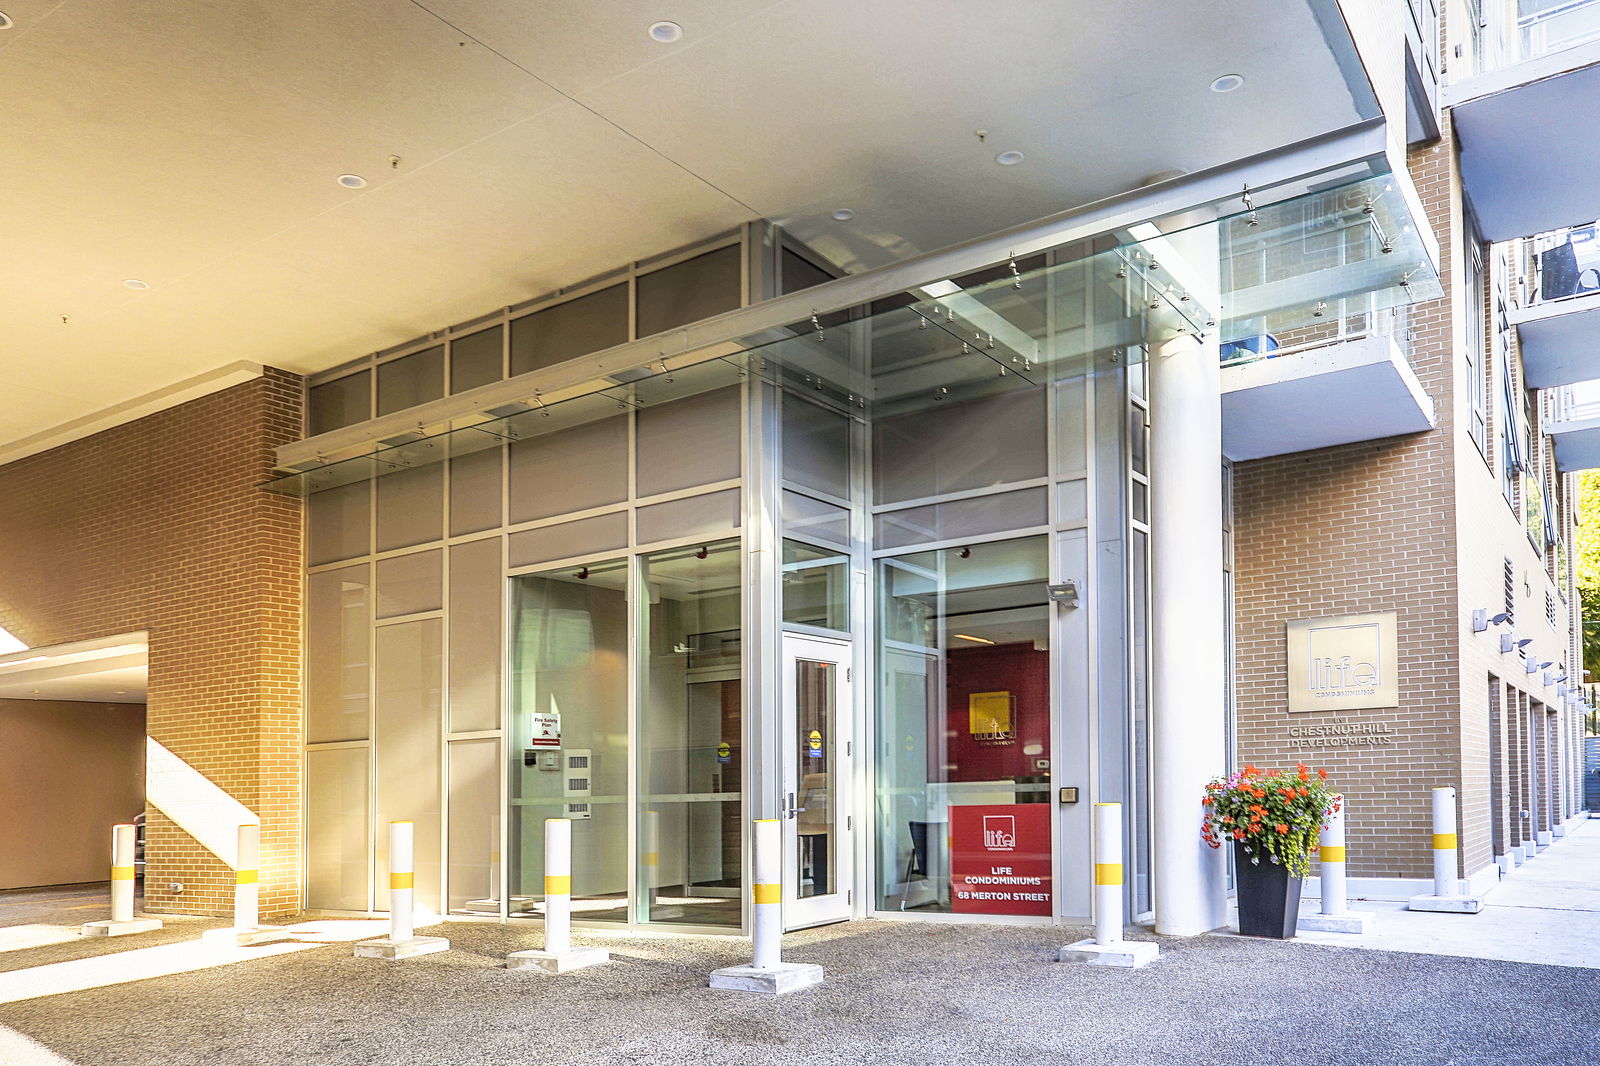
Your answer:
[[[376,631],[378,909],[389,906],[389,823],[416,823],[416,906],[438,912],[438,736],[443,623],[424,618]]]

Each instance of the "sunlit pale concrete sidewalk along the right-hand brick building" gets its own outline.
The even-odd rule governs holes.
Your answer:
[[[1309,903],[1302,914],[1315,909]],[[1350,901],[1350,909],[1376,916],[1366,933],[1301,932],[1294,940],[1600,968],[1600,820],[1581,823],[1512,871],[1483,896],[1477,914],[1427,914],[1373,900]]]

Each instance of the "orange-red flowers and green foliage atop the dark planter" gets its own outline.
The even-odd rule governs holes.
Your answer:
[[[1251,863],[1266,855],[1267,861],[1286,866],[1291,877],[1304,877],[1310,871],[1322,820],[1338,810],[1338,797],[1328,789],[1328,771],[1314,773],[1304,762],[1294,771],[1235,770],[1205,786],[1200,802],[1206,810],[1200,829],[1206,844],[1219,848],[1232,839]]]

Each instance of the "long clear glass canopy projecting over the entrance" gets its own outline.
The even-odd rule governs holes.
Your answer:
[[[1189,224],[1141,222],[1088,243],[936,279],[869,306],[734,338],[589,384],[376,442],[266,488],[309,495],[707,392],[755,375],[875,418],[1139,362],[1176,336],[1238,343],[1432,299],[1440,283],[1389,178]]]

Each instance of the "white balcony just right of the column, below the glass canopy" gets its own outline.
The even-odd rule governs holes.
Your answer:
[[[1434,429],[1402,346],[1406,307],[1330,307],[1326,325],[1222,344],[1222,453],[1234,461]],[[1334,314],[1341,312],[1341,314]]]

